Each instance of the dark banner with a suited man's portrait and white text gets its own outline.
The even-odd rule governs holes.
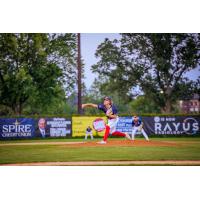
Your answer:
[[[71,135],[71,120],[66,118],[39,118],[36,121],[36,137],[66,137]]]

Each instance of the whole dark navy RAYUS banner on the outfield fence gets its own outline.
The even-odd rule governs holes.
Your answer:
[[[200,118],[188,116],[142,117],[147,134],[194,135],[200,130]]]

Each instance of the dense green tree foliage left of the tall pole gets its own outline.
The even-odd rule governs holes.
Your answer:
[[[0,34],[0,105],[21,114],[63,103],[74,89],[75,63],[75,34]]]

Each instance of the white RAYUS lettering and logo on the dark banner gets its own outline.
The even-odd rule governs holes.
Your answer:
[[[155,134],[196,134],[199,120],[194,117],[154,117]]]

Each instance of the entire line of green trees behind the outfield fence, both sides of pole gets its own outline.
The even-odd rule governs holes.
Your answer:
[[[200,65],[200,34],[121,34],[95,56],[98,78],[90,89],[83,81],[85,102],[106,95],[122,113],[171,113],[200,93],[200,76],[185,76]],[[76,113],[76,60],[77,34],[0,34],[0,115]]]

